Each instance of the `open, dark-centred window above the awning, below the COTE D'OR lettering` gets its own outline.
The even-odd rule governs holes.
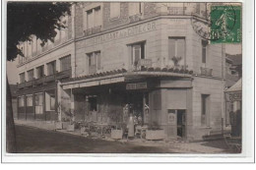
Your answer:
[[[131,45],[131,49],[131,64],[135,70],[140,69],[139,61],[145,59],[145,42],[134,43]]]

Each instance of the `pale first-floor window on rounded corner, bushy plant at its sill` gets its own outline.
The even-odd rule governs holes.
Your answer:
[[[169,60],[174,67],[182,67],[185,58],[185,37],[169,37]]]

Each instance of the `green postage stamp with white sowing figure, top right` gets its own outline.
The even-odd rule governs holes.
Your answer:
[[[241,42],[241,6],[211,7],[211,43]]]

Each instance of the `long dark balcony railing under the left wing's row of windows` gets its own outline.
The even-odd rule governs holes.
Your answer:
[[[42,84],[54,82],[55,80],[61,80],[61,79],[70,78],[70,77],[71,77],[71,69],[62,71],[62,72],[58,72],[54,75],[43,76],[41,78],[34,79],[30,82],[18,84],[17,87],[20,89],[20,88],[24,88],[24,87],[30,87],[32,85],[42,85]]]

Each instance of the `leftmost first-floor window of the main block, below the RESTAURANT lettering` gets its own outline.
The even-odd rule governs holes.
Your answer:
[[[88,53],[89,74],[96,73],[100,69],[100,51]]]

